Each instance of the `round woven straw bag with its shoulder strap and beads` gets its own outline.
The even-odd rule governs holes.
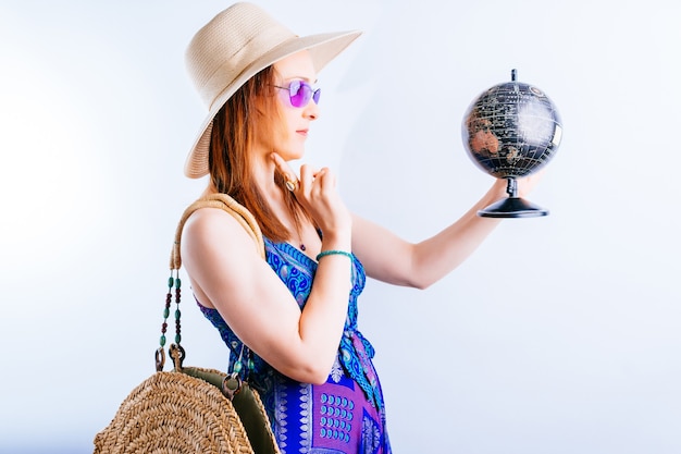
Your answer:
[[[179,344],[179,309],[175,311],[175,343],[169,347],[174,369],[163,371],[165,330],[173,287],[179,305],[179,240],[185,221],[198,208],[221,208],[234,216],[264,257],[260,228],[252,214],[225,194],[212,194],[183,213],[171,254],[171,278],[165,300],[157,372],[123,401],[109,426],[95,437],[95,454],[219,453],[280,454],[267,413],[256,390],[237,373],[184,367]]]

